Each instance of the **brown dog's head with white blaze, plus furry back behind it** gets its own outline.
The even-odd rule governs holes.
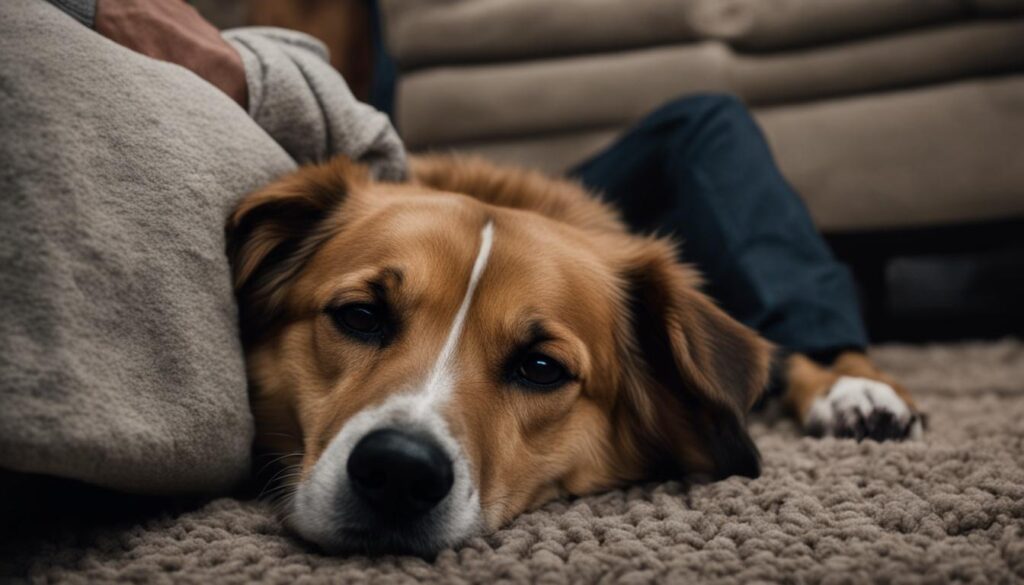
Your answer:
[[[768,345],[669,242],[479,161],[381,183],[344,159],[228,225],[258,441],[328,550],[429,554],[560,495],[754,476]]]

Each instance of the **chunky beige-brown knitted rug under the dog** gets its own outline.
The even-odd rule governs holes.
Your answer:
[[[433,561],[322,556],[267,504],[219,499],[98,526],[8,527],[3,571],[39,583],[1024,580],[1024,344],[874,356],[915,391],[924,441],[805,438],[769,413],[752,424],[759,479],[555,502]]]

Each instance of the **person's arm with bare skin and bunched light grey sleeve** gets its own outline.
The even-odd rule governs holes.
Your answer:
[[[50,0],[73,16],[92,1]],[[221,35],[184,0],[95,0],[92,13],[99,34],[220,88],[296,162],[342,154],[379,178],[406,177],[404,147],[390,121],[355,99],[316,39],[270,28]]]

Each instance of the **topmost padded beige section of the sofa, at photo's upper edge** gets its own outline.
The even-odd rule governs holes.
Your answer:
[[[1021,0],[382,0],[401,69],[699,40],[774,50],[975,15]]]

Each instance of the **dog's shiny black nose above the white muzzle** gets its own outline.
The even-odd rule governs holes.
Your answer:
[[[348,456],[348,477],[374,511],[395,519],[433,508],[455,480],[452,460],[440,446],[390,428],[359,440]]]

